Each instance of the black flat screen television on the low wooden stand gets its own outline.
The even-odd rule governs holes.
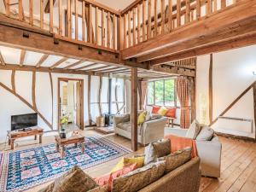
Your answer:
[[[28,113],[11,116],[11,131],[26,130],[38,125],[38,113]]]

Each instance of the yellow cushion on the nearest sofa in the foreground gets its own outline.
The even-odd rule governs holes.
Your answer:
[[[119,160],[117,165],[113,167],[111,172],[116,172],[123,169],[125,166],[130,166],[131,164],[137,163],[137,168],[144,166],[144,157],[131,157],[131,158],[122,158]]]

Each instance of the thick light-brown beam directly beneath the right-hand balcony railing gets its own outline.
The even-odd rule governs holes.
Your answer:
[[[132,57],[147,55],[158,49],[164,49],[174,44],[181,44],[189,39],[218,32],[225,27],[232,26],[236,22],[255,19],[256,1],[244,0],[237,2],[235,5],[222,9],[196,22],[191,22],[189,25],[180,27],[171,33],[148,39],[142,44],[124,49],[121,51],[122,59],[127,60]]]

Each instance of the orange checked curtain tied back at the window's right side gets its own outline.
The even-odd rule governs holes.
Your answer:
[[[188,129],[190,125],[190,111],[189,111],[189,99],[190,99],[190,81],[186,77],[178,77],[176,79],[177,97],[180,102],[180,127]]]

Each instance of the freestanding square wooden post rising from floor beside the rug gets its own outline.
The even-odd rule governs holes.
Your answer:
[[[131,149],[137,151],[137,68],[131,68]]]

